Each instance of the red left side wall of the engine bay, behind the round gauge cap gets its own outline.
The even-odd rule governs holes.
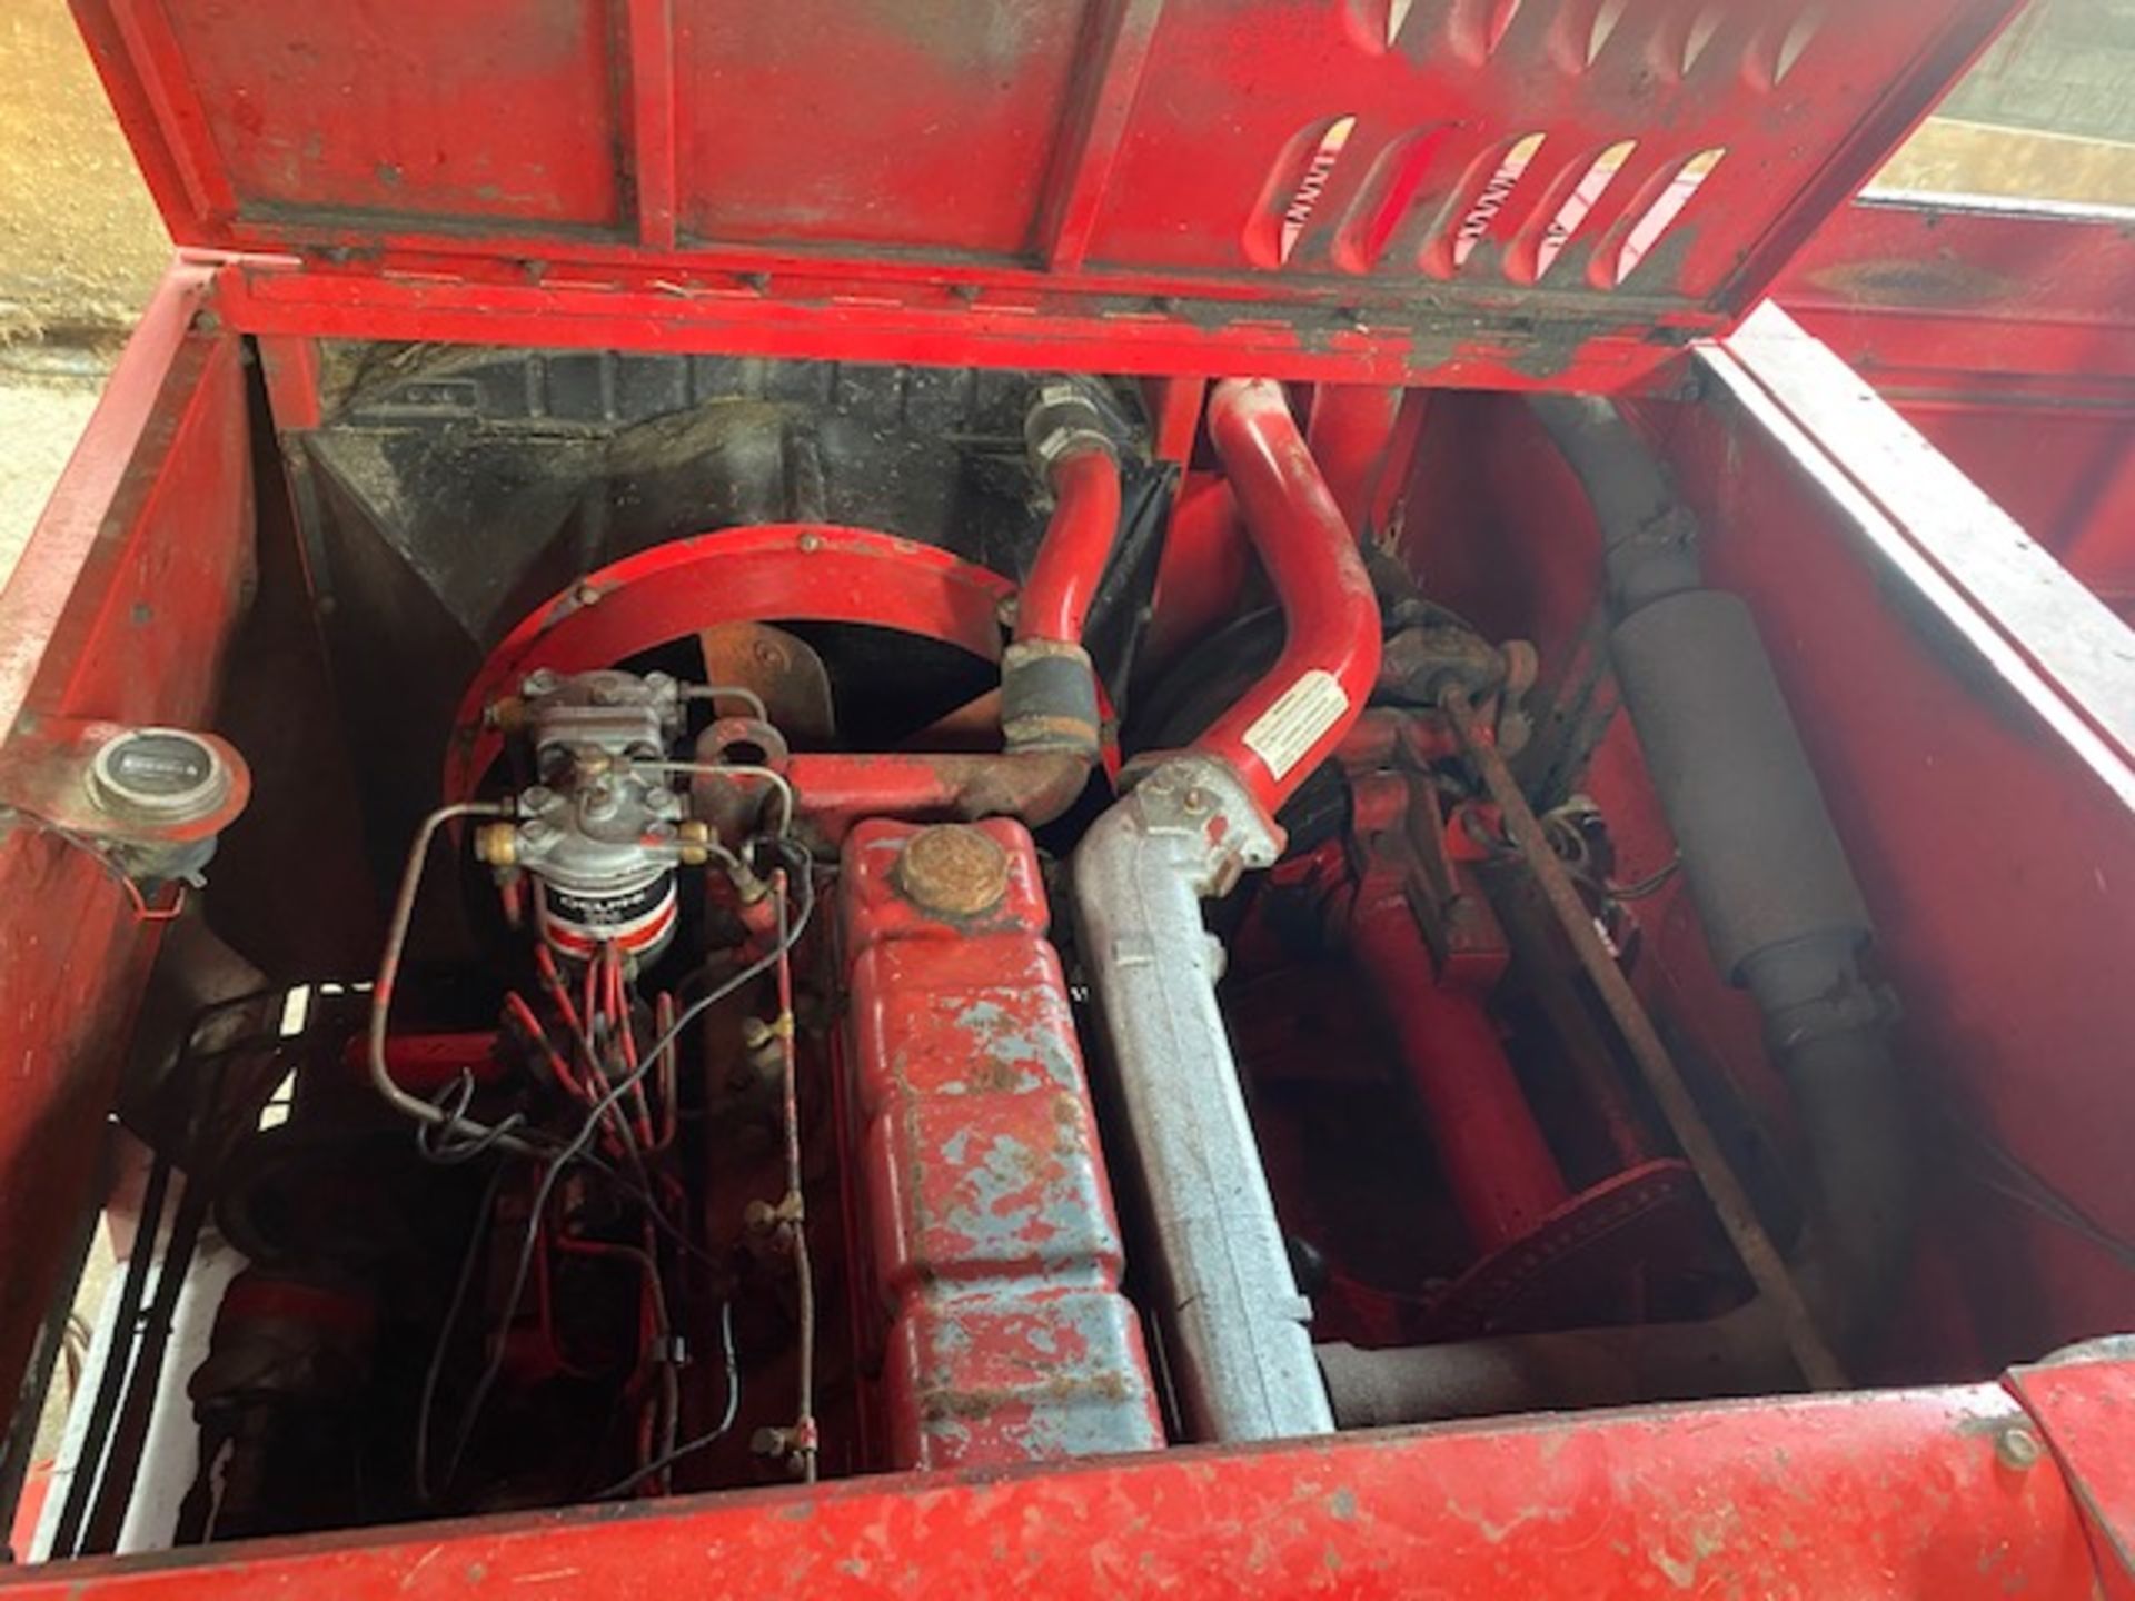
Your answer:
[[[205,724],[252,576],[252,461],[237,342],[194,327],[173,273],[111,376],[0,589],[0,739],[45,719]],[[156,924],[85,852],[0,826],[0,1388],[13,1394],[73,1230]]]

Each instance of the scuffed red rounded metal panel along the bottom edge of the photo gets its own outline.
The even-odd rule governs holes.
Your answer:
[[[1996,1454],[2018,1426],[1996,1385],[1546,1417],[81,1563],[0,1592],[2088,1599],[2065,1479]]]

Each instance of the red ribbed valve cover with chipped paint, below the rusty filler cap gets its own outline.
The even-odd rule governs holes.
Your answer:
[[[939,916],[899,888],[920,830],[843,854],[854,1104],[895,1467],[1164,1445],[1082,1055],[1029,833],[999,901]]]

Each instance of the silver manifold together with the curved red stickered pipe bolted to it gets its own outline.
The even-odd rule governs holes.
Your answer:
[[[1281,854],[1275,811],[1356,722],[1379,608],[1334,500],[1268,382],[1215,389],[1211,435],[1290,638],[1193,749],[1082,837],[1074,907],[1159,1253],[1157,1321],[1200,1441],[1334,1428],[1215,984],[1202,901]]]

